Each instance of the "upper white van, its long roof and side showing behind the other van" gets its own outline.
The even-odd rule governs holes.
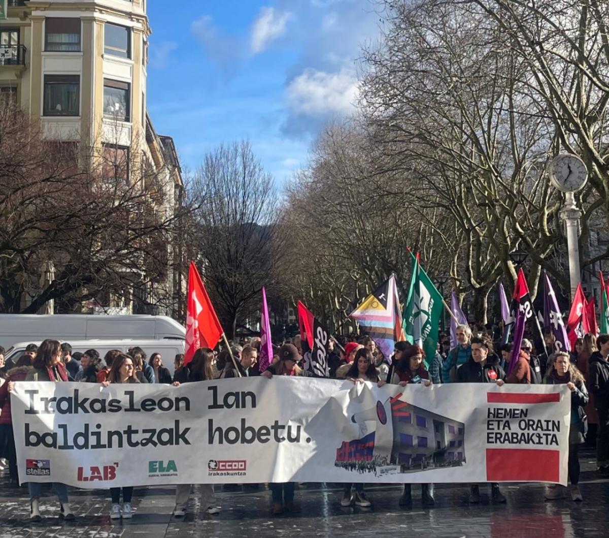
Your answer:
[[[47,338],[70,340],[178,339],[186,329],[167,316],[90,314],[0,314],[0,346]]]

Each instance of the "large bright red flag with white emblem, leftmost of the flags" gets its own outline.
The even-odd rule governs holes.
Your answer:
[[[199,348],[215,348],[223,332],[199,271],[194,262],[191,262],[188,271],[188,298],[186,299],[184,364],[191,362],[194,352]]]

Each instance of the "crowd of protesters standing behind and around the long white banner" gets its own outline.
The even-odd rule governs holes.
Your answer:
[[[442,332],[438,350],[432,360],[426,362],[423,350],[409,342],[396,342],[392,357],[384,357],[370,337],[350,338],[342,345],[334,340],[328,343],[328,367],[331,378],[346,379],[353,383],[373,382],[384,384],[421,383],[425,386],[441,383],[495,383],[503,384],[565,384],[571,391],[571,429],[569,433],[568,493],[574,501],[582,501],[579,490],[579,446],[596,444],[597,468],[602,476],[609,476],[609,335],[595,337],[586,334],[576,342],[572,353],[551,353],[551,340],[535,341],[530,335],[523,339],[521,349],[501,345],[498,328],[460,325],[456,331],[456,345],[449,345],[449,334]],[[495,340],[495,343],[493,343]],[[533,343],[534,342],[534,343]],[[548,348],[546,348],[548,346]],[[174,375],[163,366],[163,357],[146,353],[134,347],[128,353],[108,351],[102,358],[93,348],[83,354],[72,353],[69,343],[44,340],[37,347],[29,345],[23,356],[14,364],[4,364],[4,349],[0,347],[0,466],[8,467],[9,481],[18,487],[18,471],[15,456],[15,440],[10,411],[10,391],[20,381],[79,381],[101,383],[161,383],[179,386],[182,383],[211,379],[247,378],[265,376],[272,379],[279,375],[311,376],[303,368],[303,354],[308,347],[300,336],[281,346],[273,346],[269,367],[262,373],[258,369],[260,339],[254,337],[241,343],[230,342],[230,349],[200,349],[192,360],[184,365],[184,356],[174,358]],[[516,354],[515,359],[512,357]],[[426,364],[428,364],[426,366]],[[510,367],[511,365],[511,367]],[[590,391],[590,395],[588,394]],[[588,429],[590,426],[590,429]],[[38,500],[41,484],[28,482],[32,520],[40,520]],[[490,484],[491,500],[505,503],[499,484]],[[60,503],[60,517],[74,518],[68,503],[68,488],[54,484]],[[208,514],[218,514],[214,489],[211,484],[202,485],[202,502]],[[192,486],[177,486],[175,517],[185,515]],[[294,514],[299,511],[294,503],[294,482],[269,484],[272,491],[273,515]],[[128,518],[132,515],[133,487],[111,489],[111,518]],[[545,497],[554,500],[565,497],[562,486],[547,486]],[[480,484],[470,484],[470,503],[481,502]],[[421,503],[434,506],[434,485],[422,484]],[[352,504],[366,508],[371,506],[366,498],[364,484],[343,484],[341,506]],[[400,506],[412,506],[412,489],[404,484]]]

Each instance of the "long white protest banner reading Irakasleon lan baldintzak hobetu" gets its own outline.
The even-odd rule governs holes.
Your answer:
[[[18,382],[21,482],[567,481],[566,386]]]

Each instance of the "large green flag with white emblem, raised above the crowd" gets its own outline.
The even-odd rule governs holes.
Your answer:
[[[442,295],[435,289],[428,274],[421,268],[417,257],[412,256],[412,279],[404,305],[403,326],[406,340],[425,352],[425,365],[429,368],[438,344],[438,329],[442,317]]]

